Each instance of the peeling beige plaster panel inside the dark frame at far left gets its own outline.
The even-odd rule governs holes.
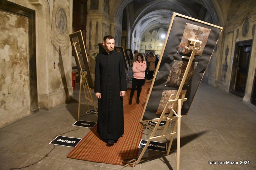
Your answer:
[[[0,11],[0,127],[30,114],[28,19]]]

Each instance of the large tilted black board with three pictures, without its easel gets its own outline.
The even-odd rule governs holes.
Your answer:
[[[191,54],[186,47],[190,46],[189,39],[194,39],[202,45],[196,50],[182,87],[182,98],[187,98],[187,101],[182,105],[181,115],[188,113],[222,29],[191,17],[173,14],[140,122],[159,118],[166,99],[177,93]],[[169,109],[167,111],[166,115],[170,113]]]

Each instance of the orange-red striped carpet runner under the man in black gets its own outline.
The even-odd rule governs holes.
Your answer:
[[[106,143],[96,133],[97,127],[95,126],[67,157],[114,165],[124,165],[122,163],[124,158],[137,157],[138,146],[142,137],[140,130],[143,128],[139,119],[147,97],[145,90],[150,86],[151,83],[145,83],[145,86],[142,86],[140,104],[136,103],[137,91],[134,93],[132,105],[128,104],[131,90],[128,89],[126,92],[123,99],[124,135],[119,138],[117,143],[111,147],[106,146]]]

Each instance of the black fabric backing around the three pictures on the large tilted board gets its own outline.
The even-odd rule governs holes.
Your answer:
[[[177,53],[179,45],[181,43],[181,39],[183,36],[184,29],[186,27],[186,23],[194,24],[200,27],[211,29],[210,35],[208,37],[207,44],[203,50],[202,56],[195,56],[195,60],[193,62],[198,62],[198,65],[194,71],[193,78],[191,80],[191,84],[189,86],[184,86],[183,89],[186,89],[187,101],[183,103],[181,114],[185,115],[188,113],[189,107],[195,97],[196,91],[200,85],[200,82],[203,77],[203,73],[210,61],[210,57],[213,53],[213,50],[216,46],[219,35],[221,34],[220,27],[214,27],[211,24],[202,23],[193,18],[184,18],[183,16],[175,15],[172,23],[171,30],[169,33],[169,37],[167,40],[166,47],[162,55],[162,59],[159,65],[159,69],[156,70],[156,79],[153,82],[153,88],[146,103],[146,109],[143,113],[142,121],[152,120],[154,118],[159,118],[161,114],[156,114],[157,108],[159,106],[159,102],[161,99],[163,90],[178,90],[179,87],[167,87],[166,81],[169,76],[172,64],[174,60],[177,61],[188,61],[188,59],[182,58],[182,55],[185,54]],[[190,56],[190,55],[187,55]],[[203,104],[203,103],[202,103]]]

